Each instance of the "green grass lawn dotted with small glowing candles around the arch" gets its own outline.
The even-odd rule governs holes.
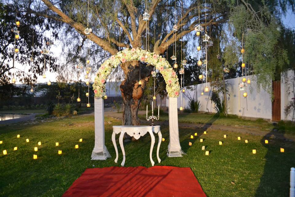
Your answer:
[[[108,124],[112,121],[111,124]],[[105,118],[105,143],[112,155],[105,161],[92,161],[94,146],[94,117],[78,116],[34,125],[0,126],[0,195],[1,196],[61,196],[86,168],[120,166],[122,154],[119,148],[118,163],[114,163],[115,149],[112,145],[112,126],[121,121]],[[160,148],[162,162],[155,165],[191,167],[207,196],[288,196],[289,171],[295,167],[295,143],[279,139],[246,135],[230,131],[179,128],[180,143],[187,155],[182,158],[168,158],[168,127],[161,127],[163,138]],[[195,132],[194,139],[190,136]],[[16,136],[20,134],[21,137]],[[223,135],[227,134],[227,138]],[[279,134],[279,133],[278,133]],[[280,134],[281,135],[281,134]],[[237,140],[240,136],[242,140]],[[30,142],[26,143],[26,138]],[[83,138],[83,142],[78,142]],[[199,138],[204,142],[200,143]],[[118,136],[116,136],[118,139]],[[245,143],[245,139],[249,143]],[[37,146],[41,141],[42,145]],[[157,141],[157,139],[156,139]],[[223,141],[218,145],[218,141]],[[55,142],[60,146],[55,147]],[[192,146],[188,146],[192,142]],[[79,144],[79,149],[75,145]],[[118,145],[119,143],[117,143]],[[13,151],[17,146],[18,151]],[[206,146],[209,156],[201,150]],[[38,151],[34,151],[38,147]],[[119,145],[118,145],[119,147]],[[151,167],[149,160],[150,137],[145,135],[136,142],[124,145],[125,167]],[[280,147],[285,152],[280,152]],[[2,151],[8,154],[3,155]],[[257,154],[252,154],[257,149]],[[62,150],[62,155],[57,151]],[[33,154],[38,155],[33,160]]]

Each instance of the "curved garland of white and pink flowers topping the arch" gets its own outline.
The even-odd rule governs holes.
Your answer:
[[[149,51],[132,48],[124,49],[116,55],[112,55],[104,63],[101,64],[93,83],[94,96],[103,98],[106,95],[105,82],[111,71],[121,63],[138,60],[154,65],[163,75],[166,82],[166,90],[169,97],[178,97],[180,92],[179,82],[176,72],[170,66],[169,62],[158,54]]]

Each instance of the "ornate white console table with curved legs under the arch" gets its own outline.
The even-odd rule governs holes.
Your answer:
[[[151,135],[151,149],[150,149],[150,159],[151,159],[151,165],[154,166],[155,162],[151,158],[152,151],[154,148],[155,144],[155,136],[153,133],[157,133],[159,136],[159,142],[158,142],[158,147],[157,147],[157,159],[158,162],[161,162],[161,159],[159,158],[159,149],[162,141],[162,134],[160,131],[160,126],[113,126],[113,134],[112,134],[112,142],[114,144],[115,150],[116,150],[116,159],[115,162],[117,163],[118,161],[118,149],[117,149],[117,144],[116,144],[116,139],[115,136],[116,134],[120,133],[119,137],[119,143],[120,147],[123,153],[123,161],[121,163],[121,166],[124,166],[125,163],[125,151],[124,151],[124,145],[123,145],[123,136],[125,133],[130,135],[131,137],[134,137],[135,139],[139,139],[141,136],[144,136],[146,133],[150,133]]]

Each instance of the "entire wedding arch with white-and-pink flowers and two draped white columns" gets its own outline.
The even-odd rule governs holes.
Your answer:
[[[111,58],[101,64],[93,83],[94,90],[94,119],[95,119],[95,143],[91,158],[93,160],[105,160],[111,155],[104,144],[104,101],[106,95],[105,83],[111,71],[121,63],[128,61],[141,61],[155,66],[163,75],[166,82],[166,90],[169,96],[169,145],[168,157],[181,157],[183,152],[179,142],[177,97],[180,87],[176,72],[169,62],[159,56],[140,48],[125,49],[112,55]],[[115,137],[112,135],[112,138]]]

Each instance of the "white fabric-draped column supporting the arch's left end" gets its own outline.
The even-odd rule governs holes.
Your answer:
[[[94,98],[94,126],[95,142],[91,158],[92,160],[105,160],[111,155],[104,145],[104,100],[102,98]]]

